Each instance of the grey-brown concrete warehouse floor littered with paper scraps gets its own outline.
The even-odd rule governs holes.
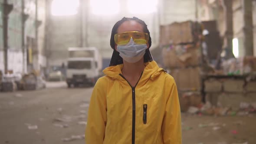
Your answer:
[[[38,91],[0,93],[0,144],[84,144],[79,135],[85,131],[91,93],[92,88],[66,88],[64,82],[47,83]],[[182,114],[183,144],[256,144],[255,121],[255,115]],[[63,141],[72,135],[78,139]]]

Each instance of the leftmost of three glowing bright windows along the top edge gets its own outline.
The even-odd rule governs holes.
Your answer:
[[[78,12],[79,0],[53,0],[52,15],[53,16],[70,16]]]

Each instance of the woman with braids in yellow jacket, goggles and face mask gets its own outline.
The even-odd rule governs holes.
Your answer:
[[[118,21],[110,66],[89,106],[86,144],[181,144],[181,112],[171,75],[153,61],[144,21]]]

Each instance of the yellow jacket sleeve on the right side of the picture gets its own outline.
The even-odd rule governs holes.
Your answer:
[[[171,85],[171,91],[167,94],[168,98],[162,123],[164,144],[182,144],[181,108],[175,82]]]

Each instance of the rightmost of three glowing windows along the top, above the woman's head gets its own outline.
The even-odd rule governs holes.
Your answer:
[[[149,14],[157,11],[158,0],[128,0],[128,11],[132,14]]]

